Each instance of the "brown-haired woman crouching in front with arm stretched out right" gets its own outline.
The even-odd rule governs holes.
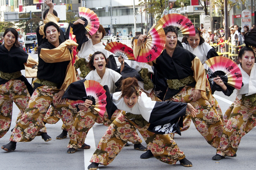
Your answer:
[[[152,130],[150,126],[156,120],[165,120],[165,123],[169,124],[172,124],[170,122],[176,118],[178,121],[182,115],[185,115],[186,108],[190,111],[191,116],[195,116],[196,110],[192,105],[170,101],[152,101],[144,92],[139,90],[138,81],[134,77],[123,80],[121,89],[121,92],[113,94],[113,103],[123,112],[116,117],[103,135],[90,160],[92,164],[88,166],[88,170],[96,170],[98,164],[104,166],[110,164],[136,129],[142,134],[154,157],[160,161],[168,164],[176,164],[177,161],[180,161],[183,166],[192,166],[192,163],[185,158],[184,153],[172,138],[169,138],[168,135],[162,135],[163,133],[156,134],[147,130],[148,128]],[[90,100],[85,101],[86,107],[90,107],[91,104]],[[163,116],[160,117],[162,114]],[[172,117],[173,115],[176,115],[176,118]],[[150,125],[148,122],[152,124]],[[161,125],[167,125],[164,122],[161,123],[163,123]],[[155,132],[159,132],[164,128],[155,127],[153,129]],[[172,128],[166,129],[167,133],[172,133]]]

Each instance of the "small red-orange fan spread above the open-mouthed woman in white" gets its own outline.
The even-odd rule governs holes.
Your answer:
[[[120,42],[110,42],[106,45],[105,49],[113,54],[115,57],[121,56],[124,59],[134,60],[133,50]]]

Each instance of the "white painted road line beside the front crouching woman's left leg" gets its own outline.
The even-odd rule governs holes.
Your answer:
[[[84,142],[91,146],[90,149],[84,149],[84,170],[88,170],[87,167],[91,164],[91,157],[96,150],[93,127],[88,131]],[[99,170],[99,168],[97,170]]]

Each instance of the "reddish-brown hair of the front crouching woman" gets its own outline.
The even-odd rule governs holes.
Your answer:
[[[138,80],[135,77],[128,77],[122,81],[121,97],[130,97],[134,92],[136,95],[138,95],[136,93],[137,89],[139,89]]]

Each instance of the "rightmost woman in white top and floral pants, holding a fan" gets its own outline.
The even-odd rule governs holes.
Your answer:
[[[228,120],[221,135],[217,154],[212,157],[213,160],[220,160],[226,156],[235,157],[242,136],[247,134],[256,125],[256,63],[255,53],[248,45],[256,46],[256,30],[247,33],[245,43],[247,46],[239,51],[238,67],[242,72],[243,86],[240,90],[236,89],[237,97],[226,111]],[[255,47],[254,47],[255,48]],[[223,91],[227,86],[220,78],[216,78],[216,84],[221,86]]]

